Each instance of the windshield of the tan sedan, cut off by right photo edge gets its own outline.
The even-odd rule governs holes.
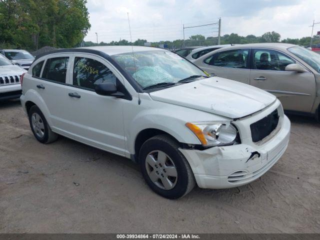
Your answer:
[[[314,70],[320,73],[320,55],[314,51],[308,50],[302,46],[293,46],[288,51],[301,58],[309,64]]]

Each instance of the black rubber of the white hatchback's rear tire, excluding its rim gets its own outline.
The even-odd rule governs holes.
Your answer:
[[[39,136],[36,132],[35,132],[35,129],[33,128],[33,125],[32,125],[32,115],[33,113],[36,113],[40,116],[40,122],[43,122],[43,136]],[[47,123],[44,115],[42,114],[41,110],[36,106],[36,105],[33,105],[31,106],[29,112],[28,112],[28,117],[29,117],[29,123],[30,123],[30,127],[31,127],[31,130],[33,132],[33,135],[34,137],[41,143],[49,143],[49,142],[52,142],[52,141],[55,141],[57,138],[58,138],[58,134],[56,134],[55,132],[53,132],[49,126],[49,124]]]

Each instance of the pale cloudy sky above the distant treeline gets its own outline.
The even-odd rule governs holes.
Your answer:
[[[276,31],[281,39],[310,36],[309,25],[320,22],[319,0],[87,0],[86,6],[91,29],[84,40],[94,42],[95,32],[98,42],[130,41],[128,15],[132,41],[183,39],[183,24],[216,23],[219,17],[221,35]],[[217,24],[186,28],[184,34],[217,36]]]

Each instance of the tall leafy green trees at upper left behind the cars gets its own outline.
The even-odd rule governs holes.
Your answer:
[[[0,47],[73,47],[90,28],[86,0],[0,0]]]

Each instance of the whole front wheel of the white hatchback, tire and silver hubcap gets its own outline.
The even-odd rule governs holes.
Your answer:
[[[146,140],[139,151],[145,181],[153,191],[170,199],[184,196],[195,185],[191,167],[178,148],[178,143],[164,134]]]

